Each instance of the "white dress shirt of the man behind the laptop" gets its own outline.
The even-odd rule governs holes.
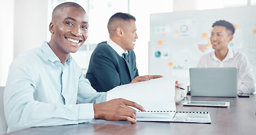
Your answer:
[[[253,71],[244,53],[228,48],[227,56],[225,56],[223,61],[220,61],[213,51],[203,55],[199,60],[197,67],[236,67],[238,68],[237,93],[254,93],[255,91]]]

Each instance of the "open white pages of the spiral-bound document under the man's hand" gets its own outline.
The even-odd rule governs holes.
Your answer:
[[[107,101],[124,98],[137,102],[146,112],[137,109],[137,121],[170,122],[176,113],[175,77],[151,79],[145,82],[125,84],[111,89]]]

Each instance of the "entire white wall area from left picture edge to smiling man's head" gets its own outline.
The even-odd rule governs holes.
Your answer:
[[[47,40],[49,2],[1,0],[0,86],[5,86],[8,67],[20,52],[40,47]]]

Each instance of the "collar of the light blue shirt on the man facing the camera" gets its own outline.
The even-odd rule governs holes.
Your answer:
[[[53,50],[51,50],[51,47],[48,44],[49,42],[43,42],[42,46],[41,46],[41,50],[42,52],[45,54],[45,56],[47,57],[48,60],[50,60],[51,62],[55,62],[55,61],[59,61],[59,58],[57,57],[57,55],[55,55],[55,53],[53,52]],[[67,63],[68,65],[70,65],[70,62],[72,60],[71,55],[68,56],[67,61],[65,62],[65,64]]]

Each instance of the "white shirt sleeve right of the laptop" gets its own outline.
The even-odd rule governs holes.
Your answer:
[[[247,93],[251,94],[255,92],[255,84],[253,77],[253,70],[247,57],[244,55],[240,59],[240,64],[238,64],[238,93]]]

